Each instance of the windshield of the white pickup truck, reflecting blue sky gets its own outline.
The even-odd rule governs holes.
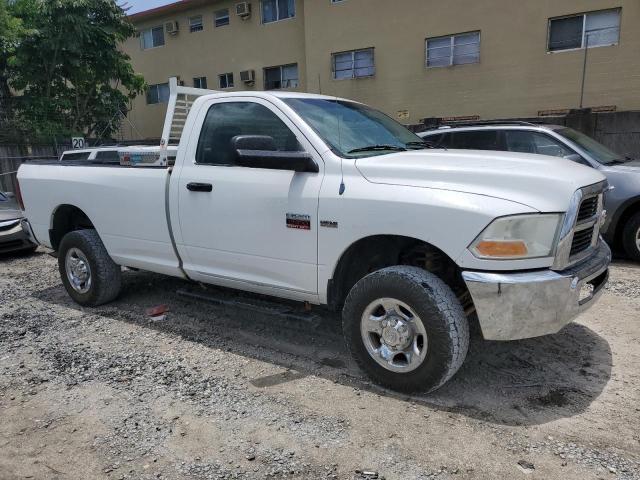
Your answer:
[[[346,158],[428,148],[429,144],[387,115],[359,103],[324,98],[284,101]]]

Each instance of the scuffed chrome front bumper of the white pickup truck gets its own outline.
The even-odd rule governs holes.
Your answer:
[[[557,333],[591,307],[609,278],[611,250],[596,251],[566,270],[521,273],[462,272],[487,340]]]

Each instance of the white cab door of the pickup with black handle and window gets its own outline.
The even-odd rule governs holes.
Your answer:
[[[191,135],[177,182],[176,243],[185,271],[205,283],[315,299],[322,158],[264,99],[213,99],[198,115],[200,130]],[[267,135],[280,151],[306,151],[319,172],[239,166],[237,135]]]

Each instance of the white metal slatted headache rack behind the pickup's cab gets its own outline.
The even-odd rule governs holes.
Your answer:
[[[184,130],[189,111],[198,97],[221,93],[218,90],[206,90],[204,88],[191,88],[178,85],[178,79],[169,79],[169,103],[167,105],[167,115],[164,119],[160,148],[165,151],[170,145],[178,145]]]

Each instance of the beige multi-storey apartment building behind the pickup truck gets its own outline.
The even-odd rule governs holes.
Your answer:
[[[535,117],[581,99],[640,109],[638,0],[183,0],[130,18],[139,35],[124,50],[150,85],[130,138],[160,136],[173,76],[351,98],[407,124]]]

